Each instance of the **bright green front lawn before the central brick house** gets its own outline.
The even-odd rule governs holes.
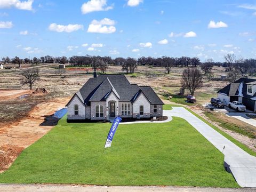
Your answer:
[[[103,154],[110,126],[62,118],[0,174],[0,183],[238,187],[220,151],[181,118],[119,125]]]

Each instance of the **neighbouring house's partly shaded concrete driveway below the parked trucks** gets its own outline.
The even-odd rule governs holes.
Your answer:
[[[225,113],[226,115],[230,116],[230,117],[234,117],[240,121],[243,121],[245,123],[248,123],[252,126],[256,127],[256,120],[250,117],[247,117],[246,114],[252,114],[255,115],[255,113],[253,113],[253,111],[247,110],[245,112],[237,112],[234,109],[229,109],[228,107],[225,107],[223,109],[218,109],[218,108],[214,108],[216,111]]]

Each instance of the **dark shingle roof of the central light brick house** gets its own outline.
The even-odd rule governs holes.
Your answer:
[[[163,105],[161,99],[150,86],[139,87],[131,84],[124,75],[99,75],[97,78],[90,78],[77,95],[86,105],[90,101],[106,100],[109,93],[113,91],[120,101],[132,101],[135,95],[142,91],[152,104]]]

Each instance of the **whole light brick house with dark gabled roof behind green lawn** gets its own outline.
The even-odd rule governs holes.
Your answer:
[[[131,84],[124,75],[94,73],[67,103],[68,121],[163,116],[163,105],[150,86]]]

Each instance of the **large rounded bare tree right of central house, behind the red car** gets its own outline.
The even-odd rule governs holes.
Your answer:
[[[191,95],[203,85],[203,75],[197,68],[187,68],[183,70],[181,85],[188,89]]]

